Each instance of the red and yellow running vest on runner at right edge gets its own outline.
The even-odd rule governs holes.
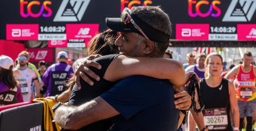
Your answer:
[[[252,92],[252,88],[255,87],[255,74],[253,65],[249,71],[244,71],[242,65],[239,65],[237,75],[237,89],[236,96],[240,101],[251,101],[255,99],[255,92]]]

